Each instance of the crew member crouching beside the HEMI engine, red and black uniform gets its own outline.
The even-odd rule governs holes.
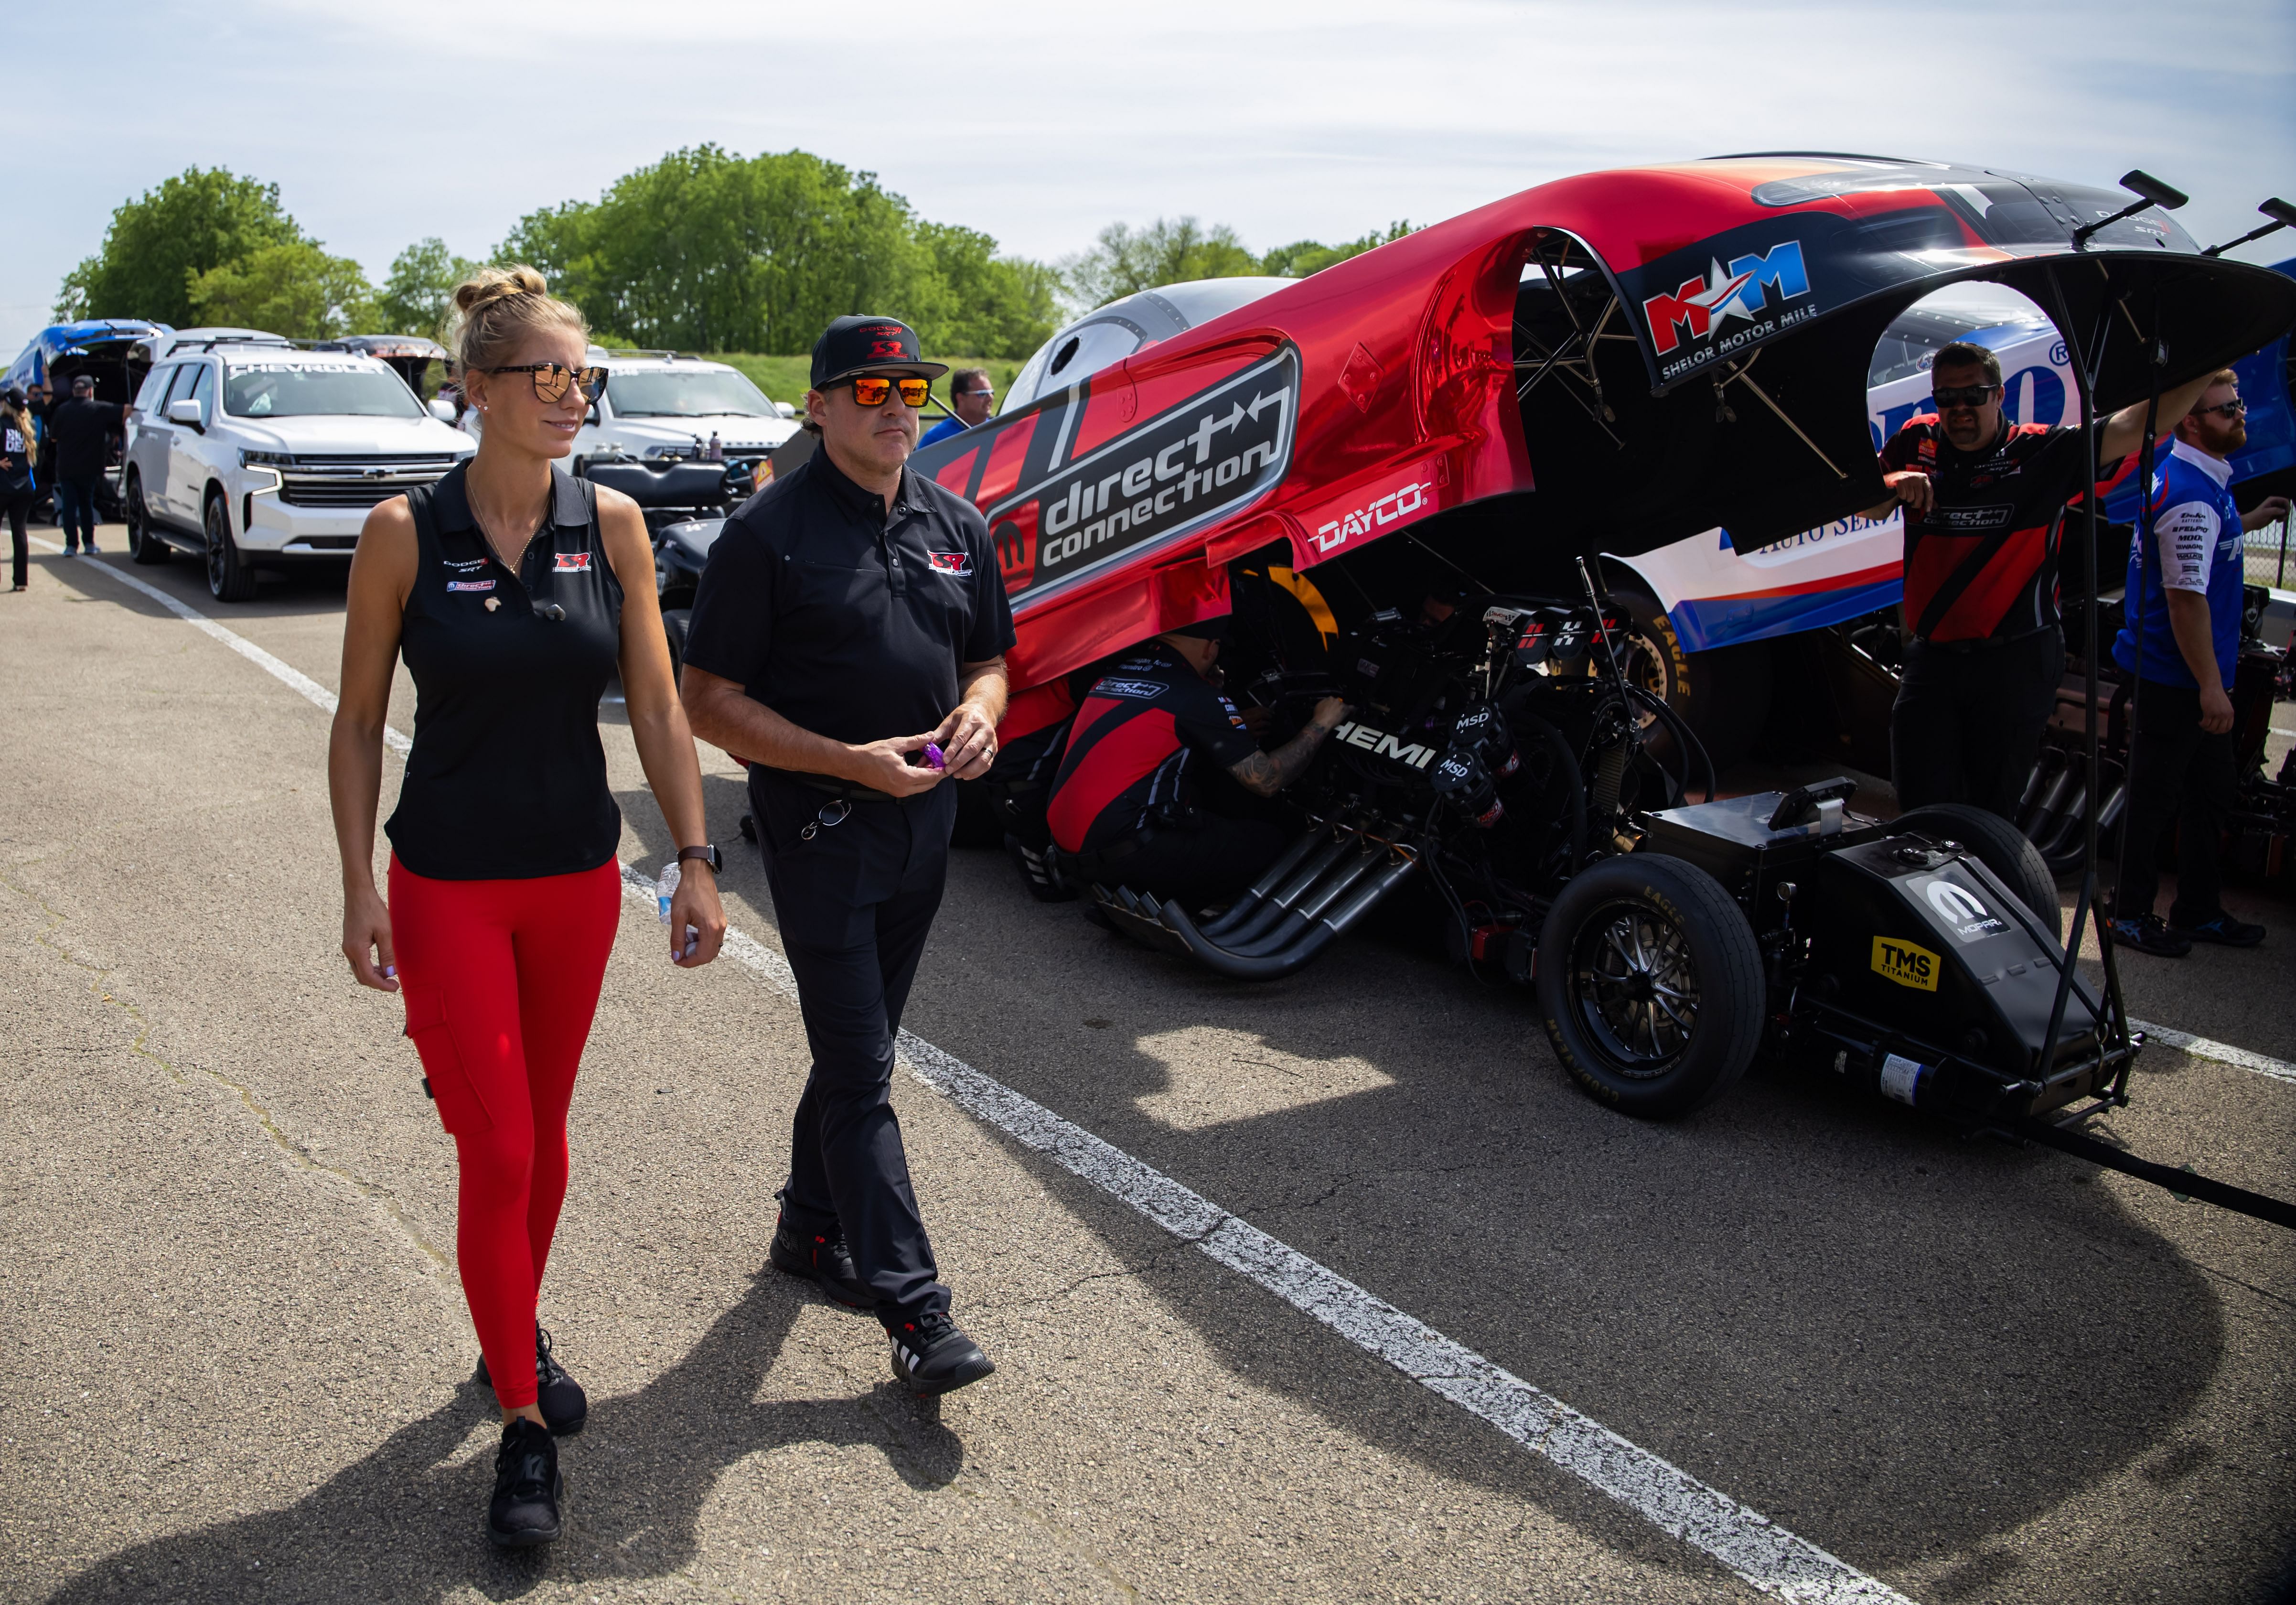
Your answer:
[[[1215,788],[1201,769],[1274,797],[1348,719],[1348,705],[1322,698],[1300,735],[1263,753],[1210,682],[1226,636],[1226,613],[1164,631],[1118,659],[1077,710],[1045,817],[1084,879],[1201,909],[1249,886],[1290,840],[1267,820],[1205,806]]]

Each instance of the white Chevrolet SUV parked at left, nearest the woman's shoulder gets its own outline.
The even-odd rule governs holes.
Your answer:
[[[372,356],[188,328],[152,358],[119,484],[129,551],[202,556],[218,602],[250,599],[259,567],[347,563],[367,507],[475,450]]]

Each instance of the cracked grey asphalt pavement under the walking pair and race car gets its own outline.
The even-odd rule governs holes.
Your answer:
[[[340,581],[225,611],[188,563],[129,572],[335,682]],[[898,1391],[872,1323],[760,1274],[794,1008],[670,969],[636,907],[544,1286],[592,1398],[569,1529],[489,1552],[452,1146],[397,1001],[335,953],[326,716],[53,556],[0,597],[0,1596],[1754,1598],[907,1077],[999,1373]],[[652,868],[615,714],[622,856]],[[705,772],[732,847],[739,776]],[[726,891],[771,944],[755,859]],[[2133,960],[2131,1008],[2296,1059],[2296,916],[2236,907],[2262,951]],[[1242,987],[987,852],[907,1024],[1910,1598],[2287,1594],[2289,1233],[1779,1072],[1621,1121],[1522,997],[1412,948]],[[2147,1052],[2108,1125],[2296,1196],[2296,1084]]]

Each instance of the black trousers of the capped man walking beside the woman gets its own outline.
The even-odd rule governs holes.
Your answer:
[[[946,1311],[893,1114],[893,1036],[941,907],[955,788],[838,804],[801,781],[751,769],[748,799],[813,1049],[781,1210],[799,1233],[843,1228],[882,1320]],[[824,808],[845,817],[824,824]]]

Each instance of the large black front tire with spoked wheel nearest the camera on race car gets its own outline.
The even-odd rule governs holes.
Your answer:
[[[1603,859],[1538,932],[1538,1013],[1564,1070],[1612,1109],[1690,1114],[1736,1086],[1761,1045],[1754,928],[1692,863]]]

